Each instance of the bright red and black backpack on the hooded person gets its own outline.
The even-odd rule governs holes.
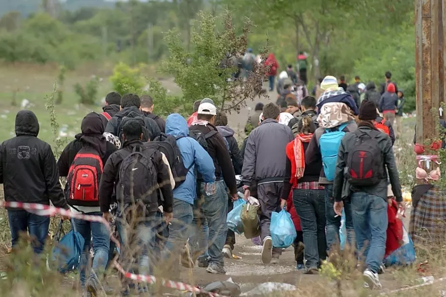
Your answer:
[[[81,148],[71,163],[67,177],[67,200],[72,206],[99,206],[99,181],[103,163],[94,148]]]

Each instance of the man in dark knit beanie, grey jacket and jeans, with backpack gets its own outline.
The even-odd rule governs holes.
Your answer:
[[[337,215],[342,215],[342,199],[351,199],[357,250],[365,258],[363,277],[370,289],[382,288],[378,272],[386,251],[388,176],[398,207],[405,208],[392,143],[375,127],[376,117],[375,103],[363,101],[358,129],[341,140],[333,184]]]

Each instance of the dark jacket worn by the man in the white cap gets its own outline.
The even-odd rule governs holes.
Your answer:
[[[212,130],[218,131],[214,125],[209,123],[207,125],[192,125],[189,127],[189,131],[192,130],[201,131],[203,134],[207,134]],[[230,194],[237,193],[234,167],[232,166],[231,156],[227,151],[223,136],[220,133],[217,133],[207,141],[209,145],[208,153],[214,160],[216,180],[221,180],[223,178]]]

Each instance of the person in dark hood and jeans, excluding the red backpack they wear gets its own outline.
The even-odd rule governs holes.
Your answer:
[[[110,155],[117,150],[117,148],[103,136],[104,123],[101,117],[102,116],[96,112],[91,112],[84,117],[81,124],[81,133],[77,134],[75,139],[63,149],[59,160],[57,161],[60,176],[69,176],[70,166],[82,148],[92,148],[94,151],[97,151],[102,159],[102,164],[105,164]],[[65,187],[66,190],[68,190],[68,188],[69,185]],[[71,206],[71,211],[74,213],[102,216],[99,201],[96,207]],[[100,273],[105,271],[109,257],[109,231],[101,222],[73,219],[72,225],[74,230],[79,232],[85,241],[79,265],[79,278],[82,288],[86,290],[86,292],[97,292],[100,288],[98,275],[101,276]],[[86,279],[86,270],[89,265],[88,263],[90,263],[88,255],[90,255],[90,247],[92,244],[95,255],[92,261],[93,271],[90,273],[89,278]]]

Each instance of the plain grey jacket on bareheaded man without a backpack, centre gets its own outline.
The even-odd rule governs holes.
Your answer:
[[[288,126],[267,119],[248,137],[243,159],[243,184],[283,182],[286,145],[294,139]],[[257,162],[257,160],[259,160]]]

